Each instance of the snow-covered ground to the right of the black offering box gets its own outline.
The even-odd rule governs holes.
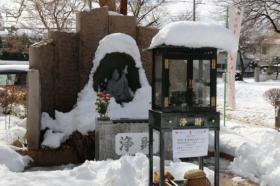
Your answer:
[[[237,108],[226,110],[226,127],[222,126],[221,120],[220,151],[236,157],[228,167],[229,171],[263,186],[276,186],[279,181],[276,175],[280,174],[277,157],[280,133],[270,129],[275,125],[275,110],[262,98],[264,91],[279,86],[279,82],[254,82],[254,78],[237,81]],[[224,85],[218,80],[217,109],[220,112],[223,112],[223,92]],[[209,150],[213,151],[210,141],[209,145]],[[242,180],[236,179],[239,181]]]

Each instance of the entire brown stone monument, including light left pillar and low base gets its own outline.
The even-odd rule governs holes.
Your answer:
[[[55,111],[70,112],[77,102],[78,92],[89,81],[89,74],[93,67],[95,52],[99,41],[105,36],[113,33],[122,33],[131,36],[141,53],[141,61],[146,71],[148,81],[151,83],[151,54],[144,53],[142,49],[147,48],[152,38],[158,33],[158,29],[137,26],[135,16],[119,16],[109,14],[108,7],[80,11],[76,14],[76,32],[63,32],[49,30],[48,39],[53,39],[55,46],[43,41],[30,46],[30,73],[27,80],[27,138],[29,139],[28,150],[22,152],[34,159],[33,166],[54,166],[69,163],[80,163],[85,159],[94,160],[95,154],[86,149],[95,141],[94,134],[81,136],[73,135],[72,148],[45,150],[40,148],[41,144],[41,113],[46,112],[51,118],[55,118]],[[67,57],[66,57],[67,56]],[[123,53],[106,54],[101,60],[97,73],[94,76],[94,89],[97,90],[100,82],[104,81],[106,74],[117,69],[128,66],[129,75],[126,75],[128,84],[133,92],[140,86],[131,82],[138,79],[135,62]],[[110,61],[116,62],[107,64]],[[128,60],[123,60],[128,59]],[[118,68],[120,67],[120,69]],[[108,67],[112,69],[108,69]],[[130,77],[132,76],[132,78]],[[133,78],[133,77],[136,78]],[[134,85],[136,84],[136,86]],[[32,89],[32,91],[30,91]],[[105,89],[105,88],[104,88]],[[78,132],[76,132],[78,133]],[[90,131],[94,133],[94,131]],[[88,146],[79,148],[80,141],[89,141]],[[93,146],[93,145],[92,145]],[[67,158],[64,158],[67,157]],[[48,160],[44,163],[41,160]],[[65,161],[63,161],[65,160]]]

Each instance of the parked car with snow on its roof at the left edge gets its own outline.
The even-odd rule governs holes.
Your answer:
[[[26,88],[29,65],[0,65],[0,85]]]

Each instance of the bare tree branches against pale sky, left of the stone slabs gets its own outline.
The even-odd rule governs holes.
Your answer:
[[[50,29],[70,31],[75,27],[75,13],[87,5],[87,0],[9,1],[11,3],[0,7],[0,11],[9,17],[12,25],[14,23],[21,28],[32,30],[33,34],[37,36],[45,35]]]

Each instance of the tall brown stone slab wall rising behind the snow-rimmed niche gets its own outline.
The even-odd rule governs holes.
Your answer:
[[[54,110],[72,110],[78,92],[88,83],[99,41],[113,33],[127,34],[135,39],[151,84],[152,54],[142,49],[150,46],[158,29],[137,26],[134,16],[109,15],[108,7],[81,11],[76,14],[75,33],[50,30],[48,39],[53,39],[55,46],[42,41],[30,47],[30,69],[39,71],[41,82],[41,110],[38,113],[47,112],[54,118]],[[27,87],[32,83],[27,82]],[[27,99],[29,108],[34,107],[32,99],[32,95]],[[27,122],[32,122],[32,117],[30,115]],[[27,125],[38,127],[38,123]]]

